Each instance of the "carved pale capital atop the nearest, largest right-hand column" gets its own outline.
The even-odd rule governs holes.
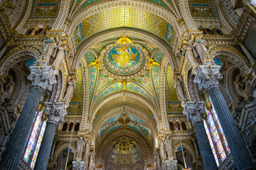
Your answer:
[[[193,70],[193,74],[196,75],[194,83],[198,84],[199,90],[206,89],[208,91],[210,87],[218,86],[218,79],[222,79],[223,76],[219,72],[220,66],[213,65],[201,65]]]

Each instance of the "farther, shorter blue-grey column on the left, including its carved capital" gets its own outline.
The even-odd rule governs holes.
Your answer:
[[[67,103],[65,102],[57,102],[57,103],[45,103],[46,111],[45,115],[48,115],[46,131],[43,135],[43,140],[41,147],[38,152],[38,157],[36,159],[35,170],[39,169],[47,169],[49,157],[50,157],[50,149],[53,146],[53,140],[56,128],[58,123],[64,120],[64,115],[67,115]]]

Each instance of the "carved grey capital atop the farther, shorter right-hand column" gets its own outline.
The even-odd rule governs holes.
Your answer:
[[[202,115],[206,113],[204,104],[204,101],[186,102],[183,114],[186,115],[188,121],[192,121],[193,125],[197,122],[203,121]]]

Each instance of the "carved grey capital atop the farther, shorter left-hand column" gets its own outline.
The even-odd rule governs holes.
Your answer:
[[[68,104],[66,102],[46,102],[45,105],[46,111],[44,114],[48,116],[49,123],[55,123],[58,125],[59,122],[63,122],[64,116],[68,114],[66,111]]]

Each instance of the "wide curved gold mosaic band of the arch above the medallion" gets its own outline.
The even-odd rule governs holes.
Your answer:
[[[175,31],[163,18],[130,7],[112,8],[85,18],[74,31],[75,44],[81,45],[90,36],[111,28],[138,28],[168,40],[174,44]]]

